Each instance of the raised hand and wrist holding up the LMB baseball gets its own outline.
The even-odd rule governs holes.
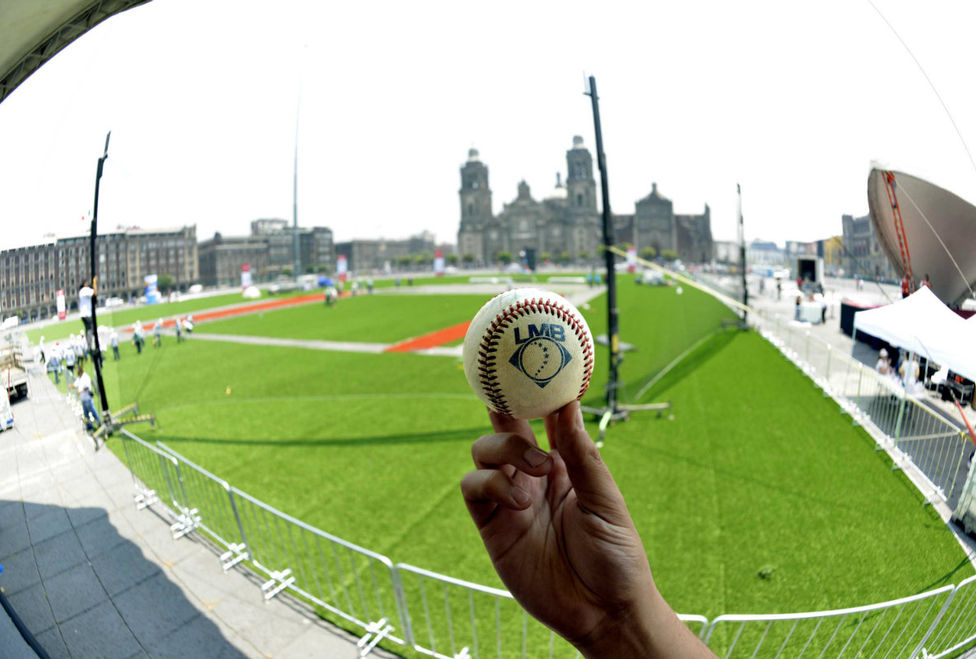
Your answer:
[[[587,657],[711,657],[658,593],[623,495],[574,401],[527,421],[489,411],[461,481],[495,570],[535,618]]]

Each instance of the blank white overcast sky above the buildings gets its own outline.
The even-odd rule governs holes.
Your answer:
[[[976,3],[874,3],[976,148]],[[573,135],[593,150],[584,74],[616,213],[656,181],[732,239],[741,183],[749,239],[825,238],[867,213],[872,161],[976,197],[963,140],[868,0],[155,0],[0,103],[0,248],[87,230],[108,130],[100,230],[290,220],[298,107],[299,224],[453,243],[469,148],[496,212],[523,178],[549,194]]]

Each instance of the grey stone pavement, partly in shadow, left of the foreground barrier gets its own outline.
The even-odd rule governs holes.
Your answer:
[[[133,505],[133,482],[43,375],[0,433],[0,588],[51,657],[357,657],[357,637]],[[112,440],[109,441],[118,441]],[[374,656],[395,655],[374,650]],[[0,609],[0,656],[32,657]]]

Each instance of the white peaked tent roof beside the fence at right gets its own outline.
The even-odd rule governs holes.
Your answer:
[[[976,380],[976,323],[963,320],[924,286],[898,302],[854,314],[855,339],[858,332]]]

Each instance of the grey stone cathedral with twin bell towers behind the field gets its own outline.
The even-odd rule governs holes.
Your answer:
[[[596,205],[596,179],[593,157],[583,146],[583,138],[573,138],[566,152],[566,179],[556,175],[556,187],[544,199],[533,199],[529,185],[521,181],[518,196],[492,213],[488,167],[478,151],[468,151],[461,167],[461,226],[458,229],[458,254],[476,265],[497,261],[501,252],[517,257],[534,252],[557,259],[569,254],[578,261],[581,255],[593,258],[603,242],[603,228]],[[652,247],[660,254],[670,250],[692,262],[712,258],[711,217],[708,205],[702,215],[675,215],[671,200],[661,196],[657,184],[651,193],[635,204],[632,215],[614,215],[614,242],[635,245],[640,252]]]

